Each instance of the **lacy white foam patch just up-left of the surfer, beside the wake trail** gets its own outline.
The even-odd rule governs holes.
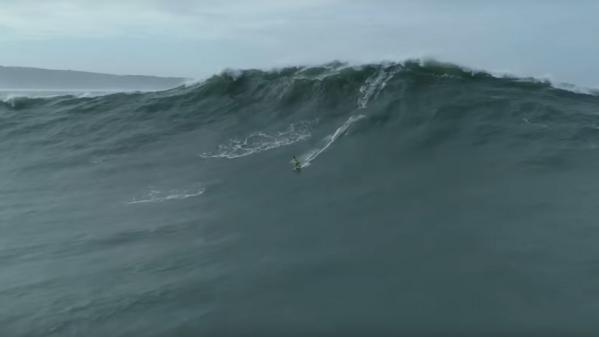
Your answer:
[[[244,139],[231,139],[226,144],[218,146],[218,151],[214,153],[202,153],[201,158],[225,158],[235,159],[250,156],[281,146],[288,146],[301,142],[311,137],[309,126],[313,122],[300,122],[289,125],[285,130],[268,133],[258,131],[251,133]]]

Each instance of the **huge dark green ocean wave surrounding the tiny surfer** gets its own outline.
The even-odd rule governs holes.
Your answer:
[[[0,332],[597,334],[598,113],[412,61],[6,99]]]

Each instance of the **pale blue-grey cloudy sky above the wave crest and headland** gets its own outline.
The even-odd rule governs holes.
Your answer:
[[[0,65],[200,78],[440,61],[599,87],[599,0],[0,0]]]

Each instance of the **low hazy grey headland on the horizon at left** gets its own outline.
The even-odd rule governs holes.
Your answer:
[[[151,91],[174,88],[186,81],[182,77],[0,66],[2,91]]]

